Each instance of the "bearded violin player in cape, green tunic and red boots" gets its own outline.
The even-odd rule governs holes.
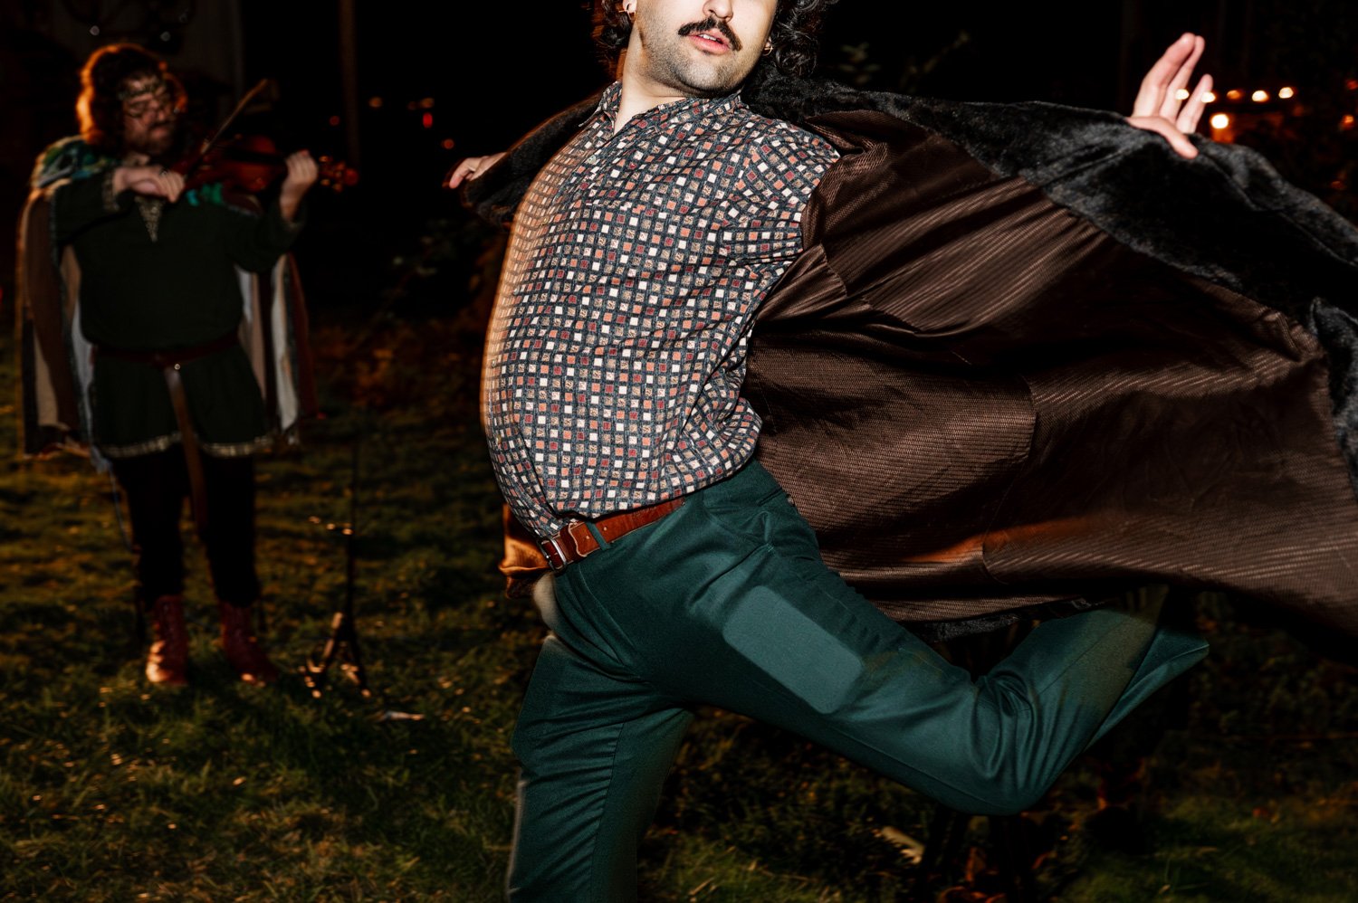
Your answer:
[[[278,669],[253,627],[254,456],[315,409],[288,248],[316,163],[288,156],[265,206],[177,171],[185,96],[162,60],[109,45],[80,84],[80,134],[38,158],[20,217],[24,452],[88,449],[111,467],[155,627],[155,684],[189,682],[179,524],[190,498],[225,657],[266,684]]]

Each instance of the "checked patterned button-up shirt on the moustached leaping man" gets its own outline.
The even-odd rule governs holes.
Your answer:
[[[614,134],[619,94],[604,91],[520,204],[488,337],[496,477],[543,536],[691,493],[754,455],[750,326],[837,156],[739,95],[665,103]]]

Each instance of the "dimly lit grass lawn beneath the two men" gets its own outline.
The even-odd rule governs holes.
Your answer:
[[[494,570],[500,502],[475,413],[475,335],[451,318],[368,331],[320,319],[326,417],[300,449],[259,463],[269,645],[296,669],[330,634],[346,592],[333,526],[349,520],[356,485],[372,698],[338,668],[320,698],[293,674],[272,688],[236,683],[213,645],[191,540],[194,683],[147,686],[107,478],[81,459],[11,454],[0,899],[498,899],[509,735],[543,629],[502,597]],[[0,358],[12,386],[10,339]],[[12,452],[4,414],[0,447]],[[1196,616],[1214,653],[1181,683],[1187,702],[1123,732],[1158,737],[1138,796],[1145,849],[1119,853],[1086,830],[1097,771],[1081,759],[1021,822],[1040,854],[1036,892],[1358,900],[1355,671],[1222,599],[1198,600]],[[967,828],[955,869],[913,884],[932,816],[928,800],[823,750],[710,712],[644,847],[642,899],[994,899],[985,820]]]

